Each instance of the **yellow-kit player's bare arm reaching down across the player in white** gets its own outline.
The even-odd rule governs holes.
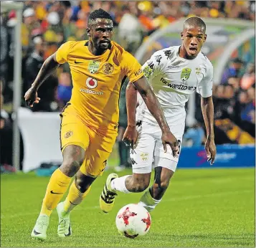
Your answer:
[[[162,130],[162,142],[164,151],[167,151],[166,145],[169,144],[169,146],[171,146],[171,150],[173,151],[174,156],[176,156],[179,151],[177,140],[171,133],[169,125],[166,122],[166,118],[164,117],[161,105],[158,102],[157,97],[151,89],[150,85],[148,84],[146,77],[141,77],[136,82],[133,82],[133,85],[136,87],[136,90],[138,90],[138,92],[141,94],[141,97],[143,98],[146,106],[148,107],[148,110],[151,112],[153,117],[156,118],[156,121],[158,122],[158,125]],[[136,107],[137,99],[135,101],[134,95],[133,97],[130,97],[129,100],[134,101],[132,105],[133,108],[134,106]],[[131,105],[131,103],[128,102],[128,105]],[[130,113],[128,115],[130,115]],[[128,120],[128,122],[129,121],[130,120]]]

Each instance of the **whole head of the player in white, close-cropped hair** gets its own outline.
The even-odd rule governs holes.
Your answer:
[[[184,22],[181,39],[188,57],[194,58],[199,54],[207,39],[206,29],[207,26],[199,17],[190,17]]]

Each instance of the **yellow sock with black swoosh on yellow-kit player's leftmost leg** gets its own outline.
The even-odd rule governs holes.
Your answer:
[[[63,194],[67,191],[71,179],[71,177],[66,176],[62,171],[60,171],[60,168],[57,168],[57,170],[52,173],[46,189],[40,214],[47,214],[47,216],[52,214],[52,210],[56,208],[57,204],[62,199]]]

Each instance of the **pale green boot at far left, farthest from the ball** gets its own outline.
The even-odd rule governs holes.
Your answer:
[[[47,215],[39,215],[37,218],[37,222],[32,230],[31,237],[45,240],[47,237],[47,227],[49,225],[49,216]]]

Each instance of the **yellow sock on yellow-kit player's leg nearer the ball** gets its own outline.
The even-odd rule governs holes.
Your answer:
[[[68,192],[67,198],[65,199],[64,203],[64,211],[70,212],[72,209],[75,208],[78,204],[82,202],[83,199],[85,199],[85,196],[90,191],[90,187],[85,191],[85,193],[81,193],[77,186],[75,186],[75,180],[72,182],[70,186],[70,191]]]

